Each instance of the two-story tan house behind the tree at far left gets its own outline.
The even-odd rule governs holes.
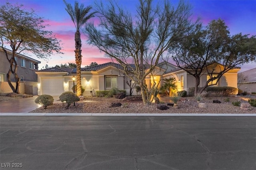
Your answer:
[[[8,49],[6,51],[10,59],[12,51]],[[41,62],[22,54],[16,54],[15,60],[18,65],[17,74],[20,77],[20,93],[37,95],[37,90],[35,89],[37,88],[37,74],[35,72],[38,70],[38,64]],[[10,63],[6,59],[6,54],[0,48],[0,93],[12,92],[6,78],[9,68]],[[15,82],[13,74],[11,75],[11,82]],[[33,87],[34,90],[32,90]]]

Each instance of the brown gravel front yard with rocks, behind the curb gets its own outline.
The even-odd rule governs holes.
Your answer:
[[[229,101],[227,101],[228,98]],[[30,113],[256,113],[256,107],[252,107],[252,110],[248,111],[232,105],[234,101],[248,103],[248,99],[252,98],[256,99],[256,96],[210,96],[202,100],[203,103],[206,103],[207,108],[199,108],[193,97],[185,97],[178,102],[179,108],[169,106],[170,108],[167,110],[160,110],[156,108],[157,104],[155,103],[145,106],[142,101],[127,102],[115,98],[85,97],[84,101],[77,102],[75,106],[71,105],[68,109],[65,104],[54,103],[47,109],[40,107]],[[165,102],[169,100],[166,96],[161,99]],[[216,104],[212,100],[220,100],[221,103]],[[120,102],[122,106],[110,107],[112,102]]]

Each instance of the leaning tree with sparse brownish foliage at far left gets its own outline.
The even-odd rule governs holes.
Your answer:
[[[18,76],[18,64],[15,55],[24,51],[35,54],[38,58],[48,59],[53,52],[61,53],[58,39],[51,31],[46,30],[44,20],[35,12],[24,10],[22,5],[12,5],[9,2],[0,6],[0,39],[6,59],[10,63],[7,73],[7,81],[12,91],[19,93],[20,77]],[[12,55],[9,58],[4,48],[4,43],[10,45]],[[11,83],[11,74],[14,75],[16,87]]]

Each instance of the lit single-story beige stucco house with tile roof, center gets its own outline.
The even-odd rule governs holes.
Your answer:
[[[232,86],[237,87],[237,72],[240,68],[235,68],[225,73],[218,86]],[[52,96],[59,96],[63,92],[72,91],[73,80],[76,76],[76,68],[48,68],[38,70],[38,95],[50,94]],[[145,83],[151,89],[153,82],[158,84],[158,87],[163,85],[163,78],[174,77],[177,81],[178,91],[186,90],[188,92],[190,87],[194,87],[194,77],[187,74],[184,70],[177,68],[174,64],[162,62],[159,63],[152,74],[149,74]],[[207,75],[201,77],[200,87],[204,85],[207,80]],[[110,90],[117,87],[120,90],[126,90],[127,94],[130,87],[125,83],[124,73],[122,67],[117,63],[104,63],[87,68],[81,68],[82,86],[85,88],[83,96],[91,96],[97,90]],[[75,81],[76,84],[76,81]],[[133,95],[136,95],[134,90]]]

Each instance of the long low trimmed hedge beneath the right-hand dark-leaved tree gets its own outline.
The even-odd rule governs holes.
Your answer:
[[[237,94],[238,88],[228,87],[228,86],[225,86],[225,87],[210,86],[210,87],[207,87],[205,91],[207,92],[207,94],[211,94],[213,92],[214,94],[217,94],[217,95],[229,96],[232,94],[233,95]]]

